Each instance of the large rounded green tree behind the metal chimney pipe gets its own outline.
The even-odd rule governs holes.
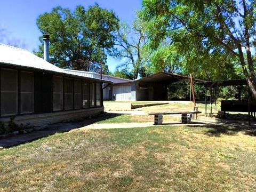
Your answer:
[[[61,68],[105,72],[106,52],[114,46],[113,32],[119,28],[119,19],[113,11],[95,4],[85,10],[77,6],[74,12],[55,7],[51,13],[39,15],[37,26],[42,33],[50,34],[50,56],[54,65]],[[43,55],[43,40],[37,53]]]

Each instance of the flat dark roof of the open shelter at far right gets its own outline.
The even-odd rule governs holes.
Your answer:
[[[223,81],[205,81],[198,82],[198,85],[203,85],[207,87],[217,87],[217,86],[237,86],[237,85],[247,85],[246,79],[234,79],[234,80],[223,80]]]

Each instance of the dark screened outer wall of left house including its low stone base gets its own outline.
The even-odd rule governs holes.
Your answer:
[[[17,74],[17,80],[15,78],[14,81],[10,81],[8,79],[8,76],[4,76],[2,72],[4,70],[10,70],[10,71],[16,71],[15,74]],[[29,100],[22,100],[22,94],[24,94],[25,91],[22,91],[22,87],[26,87],[27,84],[22,83],[21,81],[21,73],[23,72],[34,74],[33,82],[29,84],[29,86],[34,87],[33,89],[33,97],[26,97],[29,98]],[[14,68],[14,67],[5,67],[0,65],[0,80],[1,80],[1,86],[0,86],[0,121],[3,123],[8,123],[10,121],[10,118],[15,116],[14,123],[17,124],[29,124],[33,126],[40,126],[45,127],[52,123],[58,123],[64,120],[73,120],[73,119],[79,119],[86,116],[91,116],[95,114],[101,113],[103,108],[103,102],[102,100],[102,89],[101,85],[102,83],[99,82],[97,79],[85,79],[84,77],[73,77],[68,76],[66,74],[54,74],[54,73],[43,73],[43,71],[37,71],[33,69],[22,69],[22,68]],[[3,72],[4,73],[4,72]],[[6,72],[5,72],[6,73]],[[54,76],[59,76],[62,78],[61,85],[55,84],[55,87],[62,87],[62,92],[60,93],[61,98],[61,107],[59,109],[54,109],[54,103],[59,103],[60,99],[54,100],[54,94],[59,94],[58,91],[54,92]],[[70,84],[65,83],[65,79],[71,79],[71,86]],[[84,80],[84,81],[83,81]],[[7,88],[9,89],[8,82],[15,82],[16,90],[12,91],[15,93],[15,97],[3,97],[5,96],[4,93],[7,92]],[[75,84],[76,82],[76,84]],[[78,84],[77,84],[78,82]],[[93,92],[89,89],[89,85],[87,86],[87,89],[83,91],[83,84],[85,83],[93,83],[94,89]],[[5,85],[5,87],[4,87]],[[58,86],[57,86],[58,85]],[[71,88],[71,93],[68,91],[65,91],[65,85],[67,87]],[[76,86],[75,86],[76,85]],[[81,85],[81,86],[77,86]],[[7,88],[6,88],[7,87]],[[98,89],[97,89],[98,88]],[[5,91],[7,90],[7,91]],[[97,91],[98,90],[98,91]],[[85,94],[86,93],[86,94]],[[65,95],[66,94],[66,95]],[[70,97],[66,97],[67,94],[72,95],[71,99]],[[87,95],[87,97],[83,98],[84,95]],[[91,100],[93,95],[93,105],[91,105]],[[9,96],[9,95],[7,95]],[[5,100],[3,100],[5,98]],[[7,98],[7,99],[6,99]],[[13,99],[14,98],[14,99]],[[24,97],[23,97],[24,98]],[[66,99],[67,98],[67,99]],[[8,102],[6,102],[6,100]],[[86,100],[87,105],[83,106],[83,102]],[[55,101],[55,102],[54,102]],[[57,101],[57,102],[56,102]],[[71,101],[71,110],[66,110],[66,101]],[[3,105],[3,103],[5,105]],[[14,103],[13,106],[15,107],[15,111],[13,113],[7,114],[4,109],[10,109],[10,105],[6,105],[6,103]],[[31,103],[31,106],[33,106],[33,109],[30,111],[23,112],[21,109],[23,107],[23,103]],[[80,104],[81,105],[80,105]],[[69,105],[69,104],[68,104]],[[54,111],[56,110],[56,111]],[[58,110],[58,111],[57,111]],[[8,112],[8,111],[7,111]]]

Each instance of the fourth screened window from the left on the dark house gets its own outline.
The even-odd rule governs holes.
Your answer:
[[[64,83],[65,110],[73,109],[73,79],[65,78]]]

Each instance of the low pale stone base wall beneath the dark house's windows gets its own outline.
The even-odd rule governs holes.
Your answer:
[[[59,123],[61,121],[75,120],[82,117],[88,117],[91,115],[97,115],[104,111],[104,107],[99,108],[88,108],[80,110],[60,111],[55,113],[46,114],[33,114],[33,115],[22,115],[14,118],[16,124],[29,124],[33,126],[46,127],[53,123]],[[0,118],[2,123],[8,123],[10,117]]]

